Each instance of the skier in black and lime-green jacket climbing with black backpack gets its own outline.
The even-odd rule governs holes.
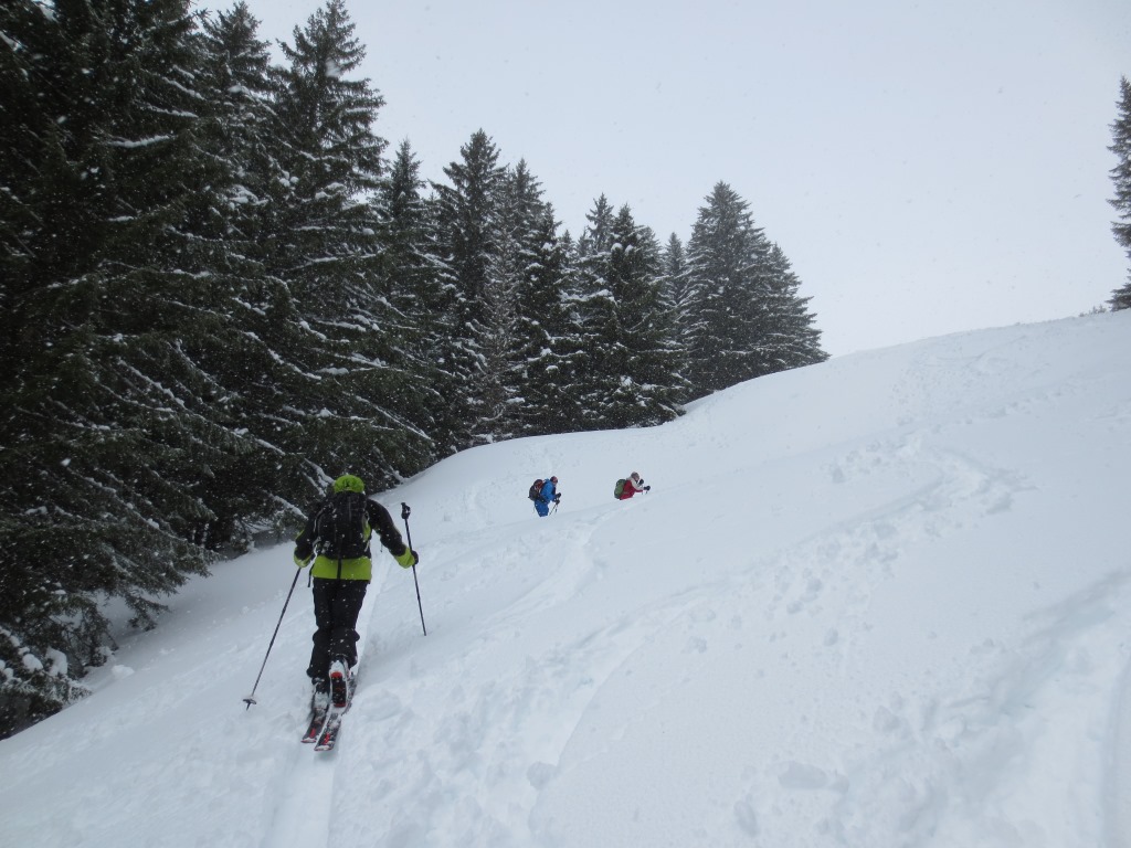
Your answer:
[[[307,667],[314,689],[312,725],[331,707],[344,710],[348,703],[351,669],[357,664],[357,616],[373,577],[373,530],[402,568],[420,562],[402,540],[389,511],[365,496],[360,477],[346,474],[334,481],[334,493],[311,510],[295,539],[295,565],[314,563],[314,647]]]

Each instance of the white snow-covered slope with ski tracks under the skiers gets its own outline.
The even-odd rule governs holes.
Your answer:
[[[1093,315],[452,457],[380,497],[428,635],[380,554],[338,751],[299,743],[304,580],[244,710],[259,551],[0,743],[0,842],[1131,846],[1129,363]]]

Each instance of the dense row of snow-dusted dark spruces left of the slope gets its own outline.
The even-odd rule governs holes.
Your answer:
[[[476,132],[430,183],[374,129],[342,0],[0,7],[0,734],[80,694],[107,604],[464,448],[632,427],[820,362],[725,183],[684,244],[599,196],[575,239]],[[536,469],[537,470],[537,469]]]

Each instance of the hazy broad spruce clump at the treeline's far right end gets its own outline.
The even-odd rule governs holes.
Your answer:
[[[682,320],[693,397],[824,358],[788,262],[726,183],[699,210],[688,266]]]

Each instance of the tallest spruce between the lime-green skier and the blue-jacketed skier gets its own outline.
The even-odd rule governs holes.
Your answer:
[[[450,268],[446,312],[455,331],[442,357],[456,390],[448,398],[442,436],[455,450],[490,441],[503,388],[489,369],[490,349],[513,341],[511,280],[499,275],[500,204],[507,170],[483,130],[472,133],[460,158],[433,183],[438,248]]]

